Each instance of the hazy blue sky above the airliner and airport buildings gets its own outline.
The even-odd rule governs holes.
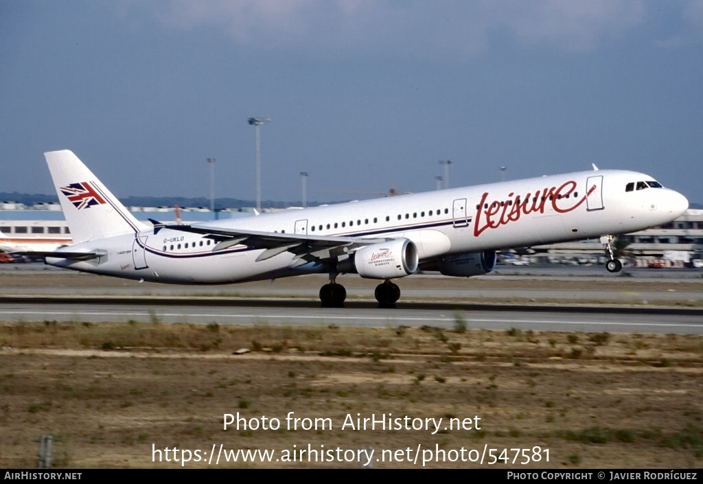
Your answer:
[[[638,170],[702,203],[703,1],[0,1],[0,191],[368,198]]]

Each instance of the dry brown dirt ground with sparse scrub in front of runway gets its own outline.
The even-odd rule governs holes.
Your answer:
[[[0,347],[2,468],[40,435],[74,469],[703,466],[701,336],[11,321]]]

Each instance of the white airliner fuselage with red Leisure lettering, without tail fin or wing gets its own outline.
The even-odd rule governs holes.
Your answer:
[[[420,262],[458,253],[478,253],[606,234],[626,234],[670,222],[688,208],[680,193],[646,174],[616,170],[576,172],[375,200],[288,210],[195,226],[259,232],[407,238]],[[642,183],[640,189],[636,189]],[[656,185],[656,182],[653,182]],[[627,189],[631,184],[630,189]],[[328,272],[325,264],[296,265],[282,252],[256,261],[262,249],[213,250],[202,234],[146,229],[86,241],[66,250],[97,251],[100,257],[64,260],[59,267],[175,284],[228,284]]]

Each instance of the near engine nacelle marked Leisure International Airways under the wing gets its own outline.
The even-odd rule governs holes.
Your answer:
[[[418,248],[407,238],[365,246],[354,253],[354,269],[369,279],[409,276],[418,270]]]

